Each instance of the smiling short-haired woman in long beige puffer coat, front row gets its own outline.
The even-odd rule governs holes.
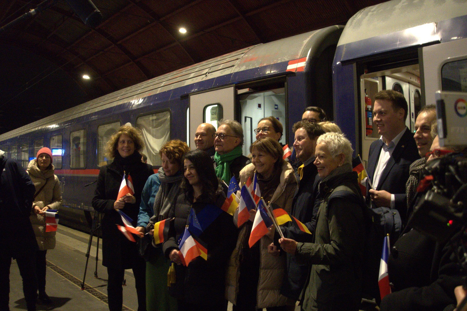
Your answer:
[[[258,185],[265,202],[290,212],[297,189],[297,179],[290,164],[283,161],[283,150],[270,137],[260,138],[250,147],[252,163],[240,172],[241,184],[257,173]],[[236,222],[238,213],[234,215]],[[248,239],[255,211],[250,211],[250,220],[239,228],[235,250],[229,261],[226,277],[226,297],[233,303],[233,311],[249,311],[266,308],[268,311],[293,308],[295,301],[281,295],[280,289],[285,273],[286,256],[268,253],[274,230],[249,248]]]

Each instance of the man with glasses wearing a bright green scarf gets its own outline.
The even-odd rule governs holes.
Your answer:
[[[217,177],[229,184],[232,176],[240,181],[240,170],[251,163],[250,159],[242,155],[243,129],[234,120],[220,120],[219,128],[212,135],[214,138],[214,166]]]

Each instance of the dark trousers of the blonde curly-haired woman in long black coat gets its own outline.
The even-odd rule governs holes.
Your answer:
[[[146,311],[146,262],[138,257],[132,267],[136,295],[138,296],[138,311]],[[108,284],[107,296],[110,311],[121,311],[123,305],[123,277],[124,269],[107,267]]]

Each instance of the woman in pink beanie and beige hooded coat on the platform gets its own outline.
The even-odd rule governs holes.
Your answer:
[[[45,293],[45,255],[47,250],[55,248],[55,231],[45,232],[45,211],[58,210],[62,204],[60,182],[57,175],[54,175],[52,165],[52,151],[46,147],[40,149],[36,158],[29,162],[27,172],[35,186],[33,214],[30,219],[39,245],[36,253],[39,300],[44,304],[51,304],[52,300]]]

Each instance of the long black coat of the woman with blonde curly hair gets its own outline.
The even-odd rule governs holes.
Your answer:
[[[136,203],[126,203],[122,211],[133,219],[134,226],[138,218],[142,189],[149,176],[154,174],[151,165],[141,162],[141,155],[138,152],[126,158],[117,156],[111,164],[102,167],[99,171],[92,207],[104,213],[101,223],[102,265],[114,269],[130,269],[139,256],[136,243],[129,241],[116,226],[116,224],[123,225],[120,214],[113,209],[123,171],[133,180]]]

